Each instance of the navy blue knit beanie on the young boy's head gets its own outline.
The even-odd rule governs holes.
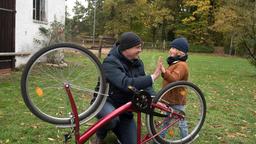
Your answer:
[[[186,38],[176,38],[170,44],[170,47],[176,48],[184,53],[188,52],[188,41]]]

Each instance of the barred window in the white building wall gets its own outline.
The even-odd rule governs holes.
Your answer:
[[[45,0],[33,0],[33,19],[38,21],[47,21]]]

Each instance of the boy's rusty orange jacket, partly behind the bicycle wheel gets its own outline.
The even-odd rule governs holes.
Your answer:
[[[163,87],[167,84],[175,82],[175,81],[187,81],[189,75],[188,65],[184,61],[178,61],[170,65],[165,73],[162,73],[163,77]],[[185,88],[175,88],[168,93],[166,93],[163,97],[164,100],[168,101],[169,104],[186,104],[187,90]]]

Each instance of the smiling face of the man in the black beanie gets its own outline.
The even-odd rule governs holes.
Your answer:
[[[138,59],[139,54],[142,51],[141,44],[134,46],[132,48],[126,49],[122,52],[122,54],[128,58],[129,60]]]

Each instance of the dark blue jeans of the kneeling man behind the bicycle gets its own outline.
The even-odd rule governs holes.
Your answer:
[[[97,114],[100,119],[116,108],[109,102],[106,102],[102,110]],[[100,139],[107,136],[107,132],[112,130],[122,144],[136,144],[137,143],[137,128],[133,118],[118,116],[108,122],[104,127],[100,128],[96,135]]]

